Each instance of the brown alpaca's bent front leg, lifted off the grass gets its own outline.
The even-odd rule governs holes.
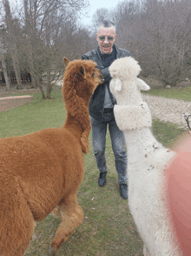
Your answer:
[[[63,203],[59,205],[59,210],[62,222],[58,226],[56,235],[52,240],[49,250],[50,256],[56,255],[59,246],[68,239],[69,234],[72,234],[77,226],[82,224],[83,219],[82,207],[78,205],[76,194],[70,195],[68,199],[64,199]]]

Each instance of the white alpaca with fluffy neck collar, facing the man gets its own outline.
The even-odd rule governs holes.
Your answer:
[[[149,86],[137,78],[141,67],[133,57],[115,60],[109,67],[110,91],[117,104],[115,120],[124,131],[128,148],[128,205],[144,242],[144,255],[182,255],[168,215],[165,169],[175,152],[154,137],[148,104],[140,90]]]

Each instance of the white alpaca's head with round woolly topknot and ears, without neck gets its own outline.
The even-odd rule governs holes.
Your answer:
[[[115,96],[117,104],[124,104],[124,101],[136,104],[142,100],[140,90],[150,89],[148,84],[137,78],[140,71],[142,69],[133,57],[118,58],[110,65],[110,91]]]

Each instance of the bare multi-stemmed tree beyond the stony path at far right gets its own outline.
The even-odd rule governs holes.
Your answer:
[[[155,64],[161,82],[175,85],[188,73],[185,63],[191,39],[190,8],[169,0],[155,3],[151,10],[146,13],[149,20],[146,18],[142,30],[155,42]]]

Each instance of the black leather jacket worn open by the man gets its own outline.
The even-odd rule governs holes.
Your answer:
[[[116,51],[116,58],[130,56],[129,51],[118,48],[115,44],[113,45],[113,47],[115,48],[115,51]],[[103,67],[102,58],[100,56],[100,51],[98,51],[98,47],[82,55],[82,59],[93,60],[97,64],[96,67],[100,69],[104,77],[104,83],[99,84],[97,86],[89,102],[89,115],[95,119],[102,120],[103,104],[105,99],[105,87],[108,86],[107,84],[109,84],[111,80],[111,77],[109,74],[109,67],[108,68]]]

